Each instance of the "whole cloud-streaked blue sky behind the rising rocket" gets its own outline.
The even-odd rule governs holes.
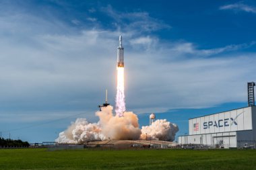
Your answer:
[[[119,34],[127,110],[178,124],[247,105],[255,1],[1,1],[0,130],[53,141],[115,101]]]

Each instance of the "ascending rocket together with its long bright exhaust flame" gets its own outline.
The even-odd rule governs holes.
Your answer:
[[[119,36],[119,46],[117,48],[117,95],[115,112],[119,117],[125,112],[125,63],[123,61],[122,36]]]

